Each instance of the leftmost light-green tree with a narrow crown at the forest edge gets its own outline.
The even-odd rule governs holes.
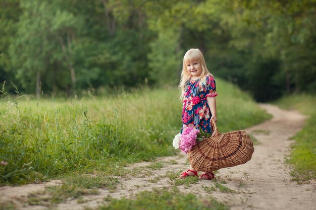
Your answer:
[[[54,47],[49,41],[51,11],[47,3],[42,1],[22,1],[21,9],[23,13],[18,23],[16,40],[10,46],[10,55],[22,87],[32,90],[30,87],[33,86],[39,98],[41,74],[47,71],[50,49]]]

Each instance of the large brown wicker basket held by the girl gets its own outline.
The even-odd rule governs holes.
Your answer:
[[[244,164],[254,151],[250,136],[244,130],[220,133],[212,121],[213,133],[189,151],[189,161],[196,171],[210,172]]]

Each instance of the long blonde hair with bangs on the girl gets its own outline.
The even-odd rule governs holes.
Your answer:
[[[179,89],[180,89],[180,100],[184,99],[184,92],[187,87],[187,82],[190,80],[191,75],[189,74],[189,71],[187,69],[187,63],[192,62],[198,62],[202,66],[202,73],[198,79],[200,79],[199,88],[202,88],[202,84],[206,86],[206,76],[210,75],[213,77],[212,74],[208,72],[208,69],[205,64],[205,60],[203,57],[203,54],[201,50],[199,49],[189,49],[184,57],[183,57],[183,66],[182,66],[182,72],[181,72],[181,79],[179,83]]]

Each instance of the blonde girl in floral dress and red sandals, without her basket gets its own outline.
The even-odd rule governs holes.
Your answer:
[[[183,58],[183,68],[179,84],[181,90],[180,99],[183,100],[182,110],[182,130],[185,127],[201,127],[205,132],[211,133],[210,121],[216,116],[217,96],[216,83],[214,77],[208,72],[203,54],[199,49],[188,50]],[[186,172],[180,175],[180,178],[186,176],[197,176],[192,166]],[[213,171],[204,173],[201,179],[215,178]]]

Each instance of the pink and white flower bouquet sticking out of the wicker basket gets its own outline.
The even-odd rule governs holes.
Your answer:
[[[196,142],[203,141],[205,137],[209,137],[210,133],[205,133],[201,128],[195,129],[194,127],[186,127],[182,130],[182,134],[175,135],[172,145],[175,149],[179,149],[188,153]]]

